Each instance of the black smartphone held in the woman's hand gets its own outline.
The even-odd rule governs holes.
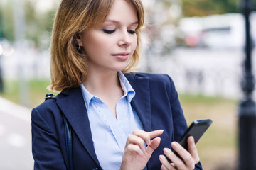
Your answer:
[[[193,123],[188,127],[188,129],[183,133],[181,136],[181,140],[179,140],[179,144],[181,144],[182,147],[188,150],[188,137],[193,136],[195,139],[195,143],[198,142],[200,137],[203,135],[204,132],[209,128],[210,124],[213,121],[210,119],[202,119],[202,120],[194,120]],[[181,158],[174,149],[171,149],[174,154],[176,154],[179,158]],[[166,157],[166,159],[171,162],[171,160]]]

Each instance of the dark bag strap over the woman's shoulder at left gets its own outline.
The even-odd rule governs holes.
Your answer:
[[[53,94],[46,94],[45,101],[54,98]],[[66,149],[68,153],[68,169],[73,170],[73,157],[72,157],[72,134],[71,134],[71,127],[70,124],[68,123],[68,120],[65,118],[65,115],[63,115],[63,120],[64,120],[64,126],[65,126],[65,144],[66,144]]]

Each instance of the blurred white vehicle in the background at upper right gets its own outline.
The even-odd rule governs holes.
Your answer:
[[[256,40],[256,13],[250,17],[252,44]],[[184,45],[214,49],[241,49],[245,45],[245,18],[242,13],[182,18],[178,28]]]

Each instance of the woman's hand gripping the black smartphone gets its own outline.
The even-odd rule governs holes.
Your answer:
[[[159,159],[162,164],[161,170],[195,169],[195,164],[199,162],[199,156],[196,149],[195,140],[192,136],[188,137],[188,151],[179,145],[178,142],[172,142],[171,147],[182,157],[183,160],[178,158],[174,152],[171,152],[171,149],[164,148],[164,154],[172,161],[172,163],[169,163],[164,155],[160,155]]]

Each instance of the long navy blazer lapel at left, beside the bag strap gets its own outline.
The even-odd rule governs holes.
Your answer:
[[[68,122],[75,131],[76,135],[78,135],[82,145],[84,145],[91,157],[95,159],[95,162],[100,166],[93,147],[89,118],[80,87],[65,90],[62,93],[67,95],[67,97],[59,98],[57,100],[58,106],[68,119]]]

